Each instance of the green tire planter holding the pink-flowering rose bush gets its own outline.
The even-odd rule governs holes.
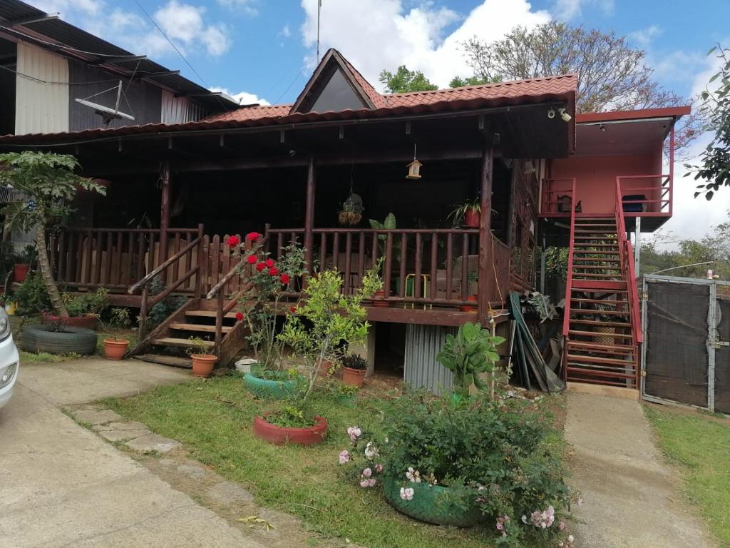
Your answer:
[[[383,482],[385,500],[388,504],[414,520],[452,527],[473,527],[484,521],[482,512],[477,506],[476,495],[468,495],[470,500],[466,501],[464,509],[443,497],[449,491],[448,487],[427,483],[409,483],[407,487],[411,487],[414,491],[410,501],[401,498],[401,484],[391,479],[385,479]]]

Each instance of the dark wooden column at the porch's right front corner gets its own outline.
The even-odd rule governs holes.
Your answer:
[[[487,142],[485,143],[484,152],[482,154],[482,169],[480,171],[480,208],[481,215],[479,221],[479,289],[477,293],[478,311],[477,316],[482,327],[488,325],[488,301],[493,294],[492,288],[496,283],[494,279],[494,269],[492,262],[494,260],[492,253],[492,134],[486,131]]]

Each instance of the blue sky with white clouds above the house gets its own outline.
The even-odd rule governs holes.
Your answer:
[[[318,0],[26,1],[242,104],[293,102],[315,66]],[[683,96],[702,91],[715,72],[707,50],[717,42],[730,47],[728,0],[691,7],[679,0],[321,1],[320,50],[337,47],[379,89],[380,71],[401,64],[445,87],[455,75],[471,75],[464,40],[499,39],[514,26],[548,20],[625,34],[647,52],[656,80]],[[695,142],[690,160],[709,140]],[[694,180],[684,172],[677,162],[675,216],[663,232],[702,237],[726,220],[730,189],[712,202],[694,199]]]

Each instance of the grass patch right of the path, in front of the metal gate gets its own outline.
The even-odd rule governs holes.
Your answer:
[[[730,547],[730,419],[670,406],[645,406],[664,454],[679,466],[690,501]]]

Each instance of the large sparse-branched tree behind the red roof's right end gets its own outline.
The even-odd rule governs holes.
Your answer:
[[[633,47],[627,37],[615,31],[605,33],[552,21],[530,30],[515,27],[494,42],[473,37],[462,47],[475,76],[488,81],[577,74],[578,113],[691,102],[653,80],[645,51]],[[685,116],[677,125],[676,147],[693,140],[701,125],[699,115]]]

